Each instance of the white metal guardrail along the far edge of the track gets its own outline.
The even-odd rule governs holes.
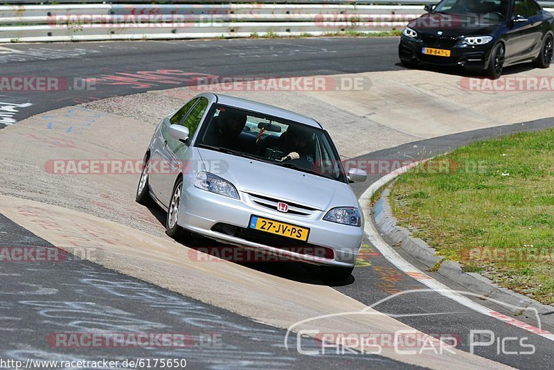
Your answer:
[[[423,14],[425,0],[410,1],[419,5],[399,6],[389,1],[391,4],[388,5],[354,6],[321,3],[321,0],[305,4],[298,1],[294,4],[257,1],[255,4],[218,5],[198,1],[177,4],[112,1],[8,5],[0,6],[0,42],[191,39],[268,34],[297,36],[347,31],[375,33],[401,30],[408,21]],[[554,1],[552,3],[554,5]]]

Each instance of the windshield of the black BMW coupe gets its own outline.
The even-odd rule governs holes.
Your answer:
[[[471,17],[477,24],[497,24],[506,19],[510,0],[444,0],[434,12]]]

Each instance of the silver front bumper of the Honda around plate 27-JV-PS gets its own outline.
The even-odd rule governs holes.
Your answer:
[[[240,200],[234,200],[195,188],[193,184],[187,182],[184,182],[183,185],[178,223],[184,229],[221,243],[260,249],[269,254],[287,256],[316,265],[353,267],[356,263],[364,235],[363,224],[361,227],[354,227],[324,221],[322,220],[325,215],[323,211],[314,211],[312,215],[280,213],[252,202],[247,193],[239,192]],[[332,254],[325,254],[325,256],[301,254],[294,252],[294,248],[291,250],[291,248],[281,246],[278,241],[264,244],[259,242],[259,238],[249,238],[244,231],[252,230],[248,229],[251,215],[307,227],[310,229],[307,242],[297,242],[287,238],[289,240],[287,245],[293,243],[298,245],[300,250],[303,250],[303,247],[332,249]],[[269,233],[263,234],[267,234],[267,238],[272,236]]]

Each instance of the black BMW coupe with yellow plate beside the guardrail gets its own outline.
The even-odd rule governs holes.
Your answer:
[[[402,32],[406,67],[457,65],[497,78],[512,64],[551,64],[554,17],[535,0],[443,0],[425,10]]]

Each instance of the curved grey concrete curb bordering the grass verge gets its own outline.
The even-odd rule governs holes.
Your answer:
[[[397,175],[400,175],[400,173],[393,175],[392,178],[389,177],[389,180],[394,179]],[[394,218],[391,205],[388,202],[391,182],[388,182],[386,186],[380,199],[371,209],[373,211],[371,222],[374,222],[377,231],[386,239],[389,246],[391,245],[390,243],[393,243],[395,246],[397,245],[397,247],[402,248],[404,252],[428,268],[436,266],[437,263],[443,261],[443,258],[435,255],[435,249],[425,243],[424,240],[413,238],[408,229],[397,226],[397,220]],[[443,261],[436,272],[447,279],[463,285],[470,292],[480,294],[483,297],[496,299],[497,301],[524,309],[535,308],[544,324],[554,326],[553,306],[544,305],[523,294],[503,288],[481,274],[463,272],[461,265],[454,261]],[[522,314],[522,311],[512,312],[512,314],[518,316]]]

